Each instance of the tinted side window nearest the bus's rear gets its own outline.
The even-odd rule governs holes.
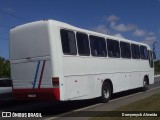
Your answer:
[[[69,55],[76,55],[76,41],[75,41],[75,34],[73,31],[69,30],[60,30],[61,33],[61,42],[62,42],[62,49],[64,54]]]

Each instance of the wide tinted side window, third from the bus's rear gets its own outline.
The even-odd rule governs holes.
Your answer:
[[[102,37],[89,36],[91,53],[93,56],[107,56],[106,42]]]

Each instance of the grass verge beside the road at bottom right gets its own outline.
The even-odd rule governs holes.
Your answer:
[[[139,100],[137,102],[133,102],[129,105],[119,107],[114,111],[142,111],[142,112],[159,111],[160,112],[160,93]],[[106,115],[107,112],[102,114],[102,116]],[[102,116],[93,117],[89,120],[160,120],[160,117],[102,117]]]

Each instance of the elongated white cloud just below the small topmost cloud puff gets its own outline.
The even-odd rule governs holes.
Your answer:
[[[123,23],[116,25],[116,22],[114,21],[111,22],[110,27],[119,32],[128,32],[128,31],[136,29],[136,25],[123,24]]]

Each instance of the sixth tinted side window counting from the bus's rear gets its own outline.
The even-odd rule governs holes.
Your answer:
[[[131,44],[131,50],[132,50],[132,58],[139,59],[140,58],[139,45]]]

